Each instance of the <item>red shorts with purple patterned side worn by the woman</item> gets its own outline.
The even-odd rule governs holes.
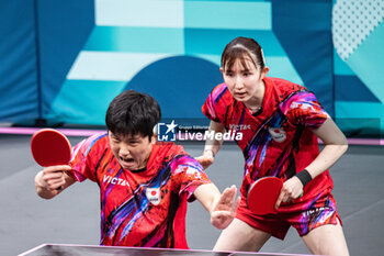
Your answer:
[[[332,194],[328,193],[326,197],[309,201],[304,211],[289,212],[284,207],[283,213],[257,215],[247,208],[246,199],[241,197],[236,218],[280,240],[284,240],[291,225],[296,229],[300,236],[303,236],[318,226],[336,225],[337,219],[342,224]]]

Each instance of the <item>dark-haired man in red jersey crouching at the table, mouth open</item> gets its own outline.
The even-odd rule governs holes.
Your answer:
[[[122,92],[106,111],[108,133],[77,144],[69,165],[39,171],[37,194],[50,199],[76,181],[97,182],[101,245],[188,248],[187,201],[194,199],[210,212],[214,226],[225,229],[239,204],[236,187],[221,194],[181,146],[156,142],[154,126],[160,118],[153,97]]]

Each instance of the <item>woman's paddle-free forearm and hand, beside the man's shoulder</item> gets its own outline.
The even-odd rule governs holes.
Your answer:
[[[225,133],[225,127],[218,122],[211,121],[208,132]],[[208,168],[213,164],[215,155],[221,149],[222,145],[223,140],[217,141],[215,140],[215,136],[213,136],[213,140],[207,138],[205,141],[203,155],[196,157],[196,160],[203,166],[204,169]]]

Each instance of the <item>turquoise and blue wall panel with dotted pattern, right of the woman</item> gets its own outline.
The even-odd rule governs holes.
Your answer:
[[[350,135],[384,131],[383,19],[383,0],[338,0],[334,5],[335,115]]]

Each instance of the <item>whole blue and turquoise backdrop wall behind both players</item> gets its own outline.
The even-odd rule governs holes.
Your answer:
[[[358,38],[346,19],[369,11]],[[165,118],[204,119],[224,46],[250,36],[270,76],[315,91],[349,135],[377,135],[383,15],[373,0],[1,0],[0,122],[102,125],[125,89],[154,96]]]

